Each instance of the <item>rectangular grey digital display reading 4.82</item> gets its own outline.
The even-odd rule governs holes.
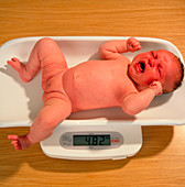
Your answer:
[[[74,146],[108,146],[110,145],[110,134],[96,135],[73,135]]]

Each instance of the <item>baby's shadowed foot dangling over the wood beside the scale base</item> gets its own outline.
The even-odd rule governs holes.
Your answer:
[[[32,145],[32,143],[29,141],[26,135],[8,135],[8,139],[11,140],[11,144],[14,146],[14,150],[25,150]]]

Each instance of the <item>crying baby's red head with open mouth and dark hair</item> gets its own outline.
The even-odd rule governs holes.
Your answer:
[[[159,50],[137,55],[129,66],[129,76],[139,89],[148,88],[154,80],[162,84],[163,92],[178,88],[184,77],[184,66],[168,51]]]

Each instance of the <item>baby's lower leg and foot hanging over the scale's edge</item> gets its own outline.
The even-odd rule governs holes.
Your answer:
[[[58,123],[65,120],[72,112],[69,100],[48,99],[37,114],[30,132],[25,135],[9,135],[15,150],[25,150],[36,142],[41,142],[52,135]]]

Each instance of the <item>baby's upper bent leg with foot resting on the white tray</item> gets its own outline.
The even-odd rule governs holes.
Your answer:
[[[61,48],[48,37],[44,37],[35,44],[25,65],[15,57],[7,63],[20,74],[21,79],[25,82],[30,81],[41,68],[48,64],[59,64],[62,68],[67,67]]]

